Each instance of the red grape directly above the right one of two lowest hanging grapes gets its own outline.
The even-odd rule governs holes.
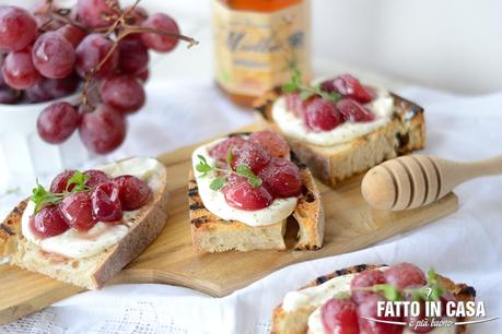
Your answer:
[[[144,105],[143,86],[132,75],[117,74],[105,79],[100,93],[103,103],[125,114],[138,111]]]

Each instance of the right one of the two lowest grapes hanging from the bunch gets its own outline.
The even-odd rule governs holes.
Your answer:
[[[100,104],[94,111],[84,112],[79,134],[87,150],[106,154],[124,142],[126,120],[119,111]]]

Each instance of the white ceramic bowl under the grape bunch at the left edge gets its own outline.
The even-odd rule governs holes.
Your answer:
[[[79,98],[80,93],[77,93],[59,100],[75,104]],[[52,103],[0,104],[0,189],[16,186],[17,178],[34,180],[37,176],[82,165],[91,158],[78,133],[61,145],[47,144],[38,136],[38,115]]]

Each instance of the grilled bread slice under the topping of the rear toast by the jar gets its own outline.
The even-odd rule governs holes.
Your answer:
[[[272,119],[272,107],[281,95],[279,90],[268,92],[257,100],[259,120],[282,133]],[[386,127],[348,143],[319,146],[284,135],[291,150],[311,168],[314,176],[330,187],[378,165],[425,145],[423,108],[396,95],[393,120]]]

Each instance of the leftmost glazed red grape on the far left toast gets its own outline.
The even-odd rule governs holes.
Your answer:
[[[39,238],[48,238],[62,234],[70,228],[62,217],[58,205],[44,206],[30,218],[32,232]]]

